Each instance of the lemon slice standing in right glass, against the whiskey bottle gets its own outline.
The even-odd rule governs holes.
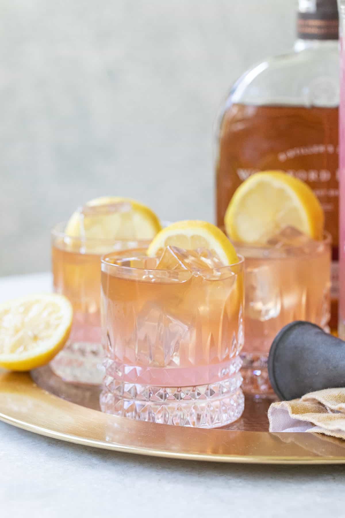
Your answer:
[[[321,239],[324,213],[318,198],[302,180],[281,171],[264,171],[237,188],[224,224],[232,240],[246,243],[265,243],[287,226]]]

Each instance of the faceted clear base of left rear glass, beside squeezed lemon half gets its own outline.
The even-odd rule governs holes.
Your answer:
[[[57,376],[69,383],[99,385],[104,376],[102,360],[100,343],[67,342],[50,366]]]

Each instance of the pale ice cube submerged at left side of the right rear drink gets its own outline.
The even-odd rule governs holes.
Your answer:
[[[246,314],[260,320],[274,319],[281,309],[279,276],[271,265],[246,268]]]

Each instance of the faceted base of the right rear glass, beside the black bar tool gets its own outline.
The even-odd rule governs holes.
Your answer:
[[[267,371],[267,354],[242,353],[242,389],[254,397],[275,397]]]

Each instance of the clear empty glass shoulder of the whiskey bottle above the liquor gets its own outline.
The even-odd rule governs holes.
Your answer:
[[[269,57],[235,82],[226,106],[234,103],[338,106],[338,46]]]

